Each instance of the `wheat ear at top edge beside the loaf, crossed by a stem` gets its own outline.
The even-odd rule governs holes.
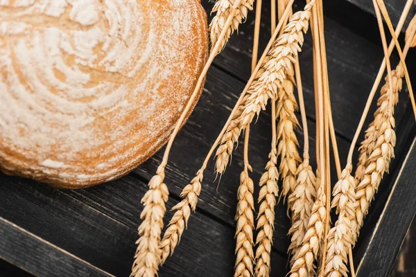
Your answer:
[[[211,20],[209,24],[209,32],[211,37],[211,51],[213,51],[214,45],[220,39],[221,30],[223,30],[225,21],[232,10],[232,6],[234,6],[235,0],[217,0],[214,4],[214,7],[211,10],[212,12],[216,12],[216,15]],[[227,33],[225,33],[220,50],[218,53],[222,51],[225,44],[227,43],[229,37],[234,33],[235,30],[239,30],[239,25],[245,21],[248,15],[248,11],[253,9],[254,0],[243,0],[239,6],[239,12],[234,16],[232,19],[232,24],[227,29]]]

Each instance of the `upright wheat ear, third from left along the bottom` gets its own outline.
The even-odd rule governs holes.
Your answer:
[[[236,211],[236,265],[234,277],[253,275],[254,184],[247,171],[241,172]]]

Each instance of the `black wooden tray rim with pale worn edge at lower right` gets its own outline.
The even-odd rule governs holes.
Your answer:
[[[388,276],[416,213],[416,139],[371,233],[357,276]]]

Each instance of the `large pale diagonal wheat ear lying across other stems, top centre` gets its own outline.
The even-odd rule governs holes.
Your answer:
[[[256,75],[259,77],[250,85],[247,94],[229,122],[227,131],[220,139],[220,145],[216,151],[216,172],[219,174],[222,174],[227,167],[229,155],[232,153],[241,130],[250,125],[254,116],[259,115],[262,109],[266,109],[270,98],[277,98],[278,90],[287,78],[286,73],[290,72],[293,75],[292,63],[301,51],[304,42],[303,33],[308,30],[311,7],[314,3],[315,1],[311,1],[304,10],[296,12],[289,19],[283,33],[272,44],[268,56]]]

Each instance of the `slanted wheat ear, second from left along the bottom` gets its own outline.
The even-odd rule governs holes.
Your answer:
[[[196,177],[182,190],[180,196],[184,199],[172,208],[172,210],[176,210],[175,214],[168,224],[168,229],[164,233],[162,242],[159,244],[161,251],[160,264],[164,264],[169,254],[173,254],[175,247],[180,242],[184,229],[187,228],[191,210],[193,212],[196,210],[198,196],[201,192],[203,172],[204,168],[198,170]]]

